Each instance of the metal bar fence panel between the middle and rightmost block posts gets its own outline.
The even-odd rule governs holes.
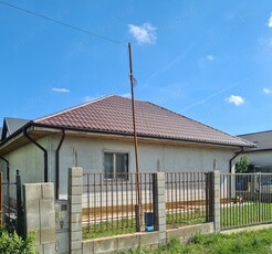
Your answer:
[[[211,174],[166,173],[166,223],[168,227],[203,223],[211,216]]]

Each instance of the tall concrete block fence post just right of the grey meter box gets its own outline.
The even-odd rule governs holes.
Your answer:
[[[83,170],[69,169],[70,253],[82,253],[82,187]]]

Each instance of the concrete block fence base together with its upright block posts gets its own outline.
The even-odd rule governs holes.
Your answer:
[[[159,246],[171,237],[187,240],[196,233],[212,233],[220,231],[220,173],[212,172],[211,188],[211,221],[210,223],[182,226],[167,230],[166,227],[166,190],[165,173],[153,174],[153,204],[155,214],[154,232],[137,232],[134,234],[111,237],[82,240],[82,191],[83,170],[74,167],[69,169],[69,187],[65,201],[67,216],[63,216],[65,202],[54,200],[53,183],[24,184],[25,232],[36,232],[36,243],[41,253],[113,253],[129,250],[138,245]],[[55,205],[55,203],[59,205]],[[56,208],[61,210],[56,211]],[[64,220],[65,219],[65,220]],[[62,223],[62,224],[59,224]],[[59,235],[62,233],[62,237]],[[57,235],[56,235],[57,234]],[[66,236],[67,235],[67,236]],[[56,240],[57,239],[57,240]],[[64,242],[65,240],[65,242]],[[63,242],[62,242],[63,241]],[[61,246],[65,245],[64,248]],[[61,251],[66,250],[66,251]]]

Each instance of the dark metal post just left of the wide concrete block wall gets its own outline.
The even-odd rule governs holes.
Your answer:
[[[17,170],[17,233],[20,236],[24,236],[23,230],[23,211],[22,211],[22,187],[21,187],[21,176],[19,170]]]

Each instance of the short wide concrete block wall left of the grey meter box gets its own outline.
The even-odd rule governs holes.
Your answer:
[[[41,253],[55,253],[53,183],[23,184],[25,235],[35,231]]]

